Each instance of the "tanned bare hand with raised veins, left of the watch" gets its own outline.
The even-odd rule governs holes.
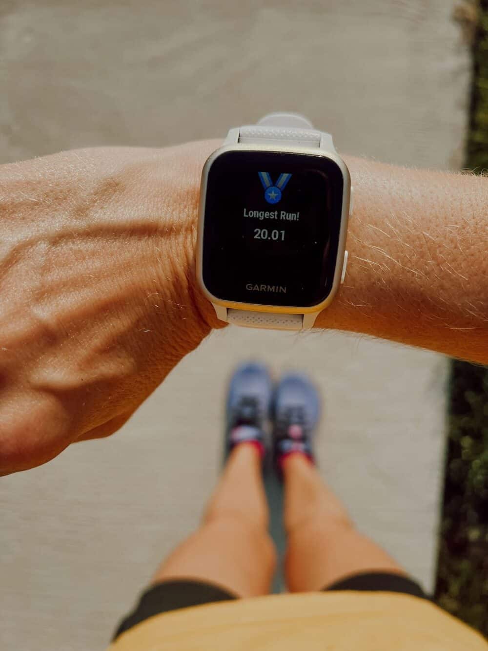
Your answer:
[[[113,434],[219,325],[194,273],[218,145],[0,167],[0,474]]]

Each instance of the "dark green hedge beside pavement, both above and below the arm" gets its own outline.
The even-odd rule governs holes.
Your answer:
[[[475,7],[466,167],[487,174],[488,0]],[[488,368],[461,361],[452,362],[435,600],[488,635]]]

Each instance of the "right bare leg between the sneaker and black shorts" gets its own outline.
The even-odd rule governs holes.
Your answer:
[[[284,458],[286,579],[291,592],[321,590],[357,572],[406,573],[355,530],[346,508],[303,454]]]

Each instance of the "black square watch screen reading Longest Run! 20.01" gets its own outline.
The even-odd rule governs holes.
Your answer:
[[[208,172],[203,280],[215,298],[312,307],[334,280],[344,179],[329,158],[229,151]]]

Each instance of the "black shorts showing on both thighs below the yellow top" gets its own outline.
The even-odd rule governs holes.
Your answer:
[[[401,592],[422,599],[429,599],[424,590],[409,577],[393,572],[366,572],[337,581],[328,590],[373,590],[380,592]],[[180,608],[204,603],[226,602],[237,599],[236,594],[204,581],[162,581],[143,592],[135,609],[118,626],[113,640],[145,619],[160,613],[169,613]]]

